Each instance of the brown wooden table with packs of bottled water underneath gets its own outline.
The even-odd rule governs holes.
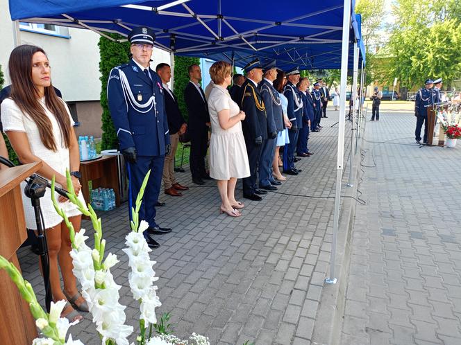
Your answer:
[[[81,161],[80,172],[81,190],[87,202],[90,202],[92,195],[93,199],[97,198],[93,202],[100,204],[101,209],[106,211],[114,208],[114,202],[115,206],[120,205],[117,156]]]

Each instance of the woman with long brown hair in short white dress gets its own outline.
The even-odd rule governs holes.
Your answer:
[[[37,46],[28,44],[17,46],[11,52],[8,68],[11,95],[1,104],[3,131],[8,135],[19,161],[42,162],[42,168],[37,173],[49,181],[54,176],[57,186],[64,186],[67,189],[66,169],[74,172],[74,175],[79,175],[80,156],[69,109],[64,101],[56,96],[51,85],[51,68],[47,55]],[[72,176],[72,184],[79,199],[85,203],[76,176]],[[67,198],[56,196],[60,207],[69,217],[74,229],[78,231],[81,224],[80,211]],[[25,195],[22,196],[22,200],[26,227],[36,230],[31,200]],[[72,273],[69,229],[56,213],[51,202],[51,191],[48,188],[44,197],[40,199],[40,204],[47,235],[53,300],[68,300],[62,310],[62,317],[67,317],[71,321],[82,319],[74,308],[88,311],[88,306],[77,290],[76,278]],[[61,289],[58,263],[64,281],[64,290]]]

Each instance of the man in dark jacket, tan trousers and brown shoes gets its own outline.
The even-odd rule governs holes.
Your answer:
[[[182,186],[176,182],[174,177],[174,155],[178,148],[179,134],[183,134],[186,130],[186,124],[181,115],[181,111],[178,107],[178,100],[174,96],[173,91],[168,87],[168,82],[171,80],[171,67],[169,64],[161,63],[156,67],[156,72],[162,80],[162,87],[165,91],[165,109],[167,110],[168,118],[168,129],[169,129],[169,141],[171,143],[171,152],[165,155],[165,163],[163,165],[163,186],[165,188],[165,194],[173,197],[180,197],[182,194],[180,191],[187,191],[189,187]]]

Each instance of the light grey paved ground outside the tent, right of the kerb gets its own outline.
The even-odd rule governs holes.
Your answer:
[[[340,344],[459,345],[461,148],[420,147],[412,112],[383,105],[364,135],[367,204],[355,212]]]

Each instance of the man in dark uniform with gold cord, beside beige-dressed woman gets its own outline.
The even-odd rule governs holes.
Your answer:
[[[258,194],[266,194],[256,186],[258,179],[258,161],[262,143],[267,139],[266,108],[258,89],[258,82],[262,80],[262,67],[259,60],[253,60],[244,67],[246,80],[240,94],[240,107],[246,117],[242,121],[243,136],[250,166],[250,176],[243,179],[243,197],[249,200],[260,201]]]

